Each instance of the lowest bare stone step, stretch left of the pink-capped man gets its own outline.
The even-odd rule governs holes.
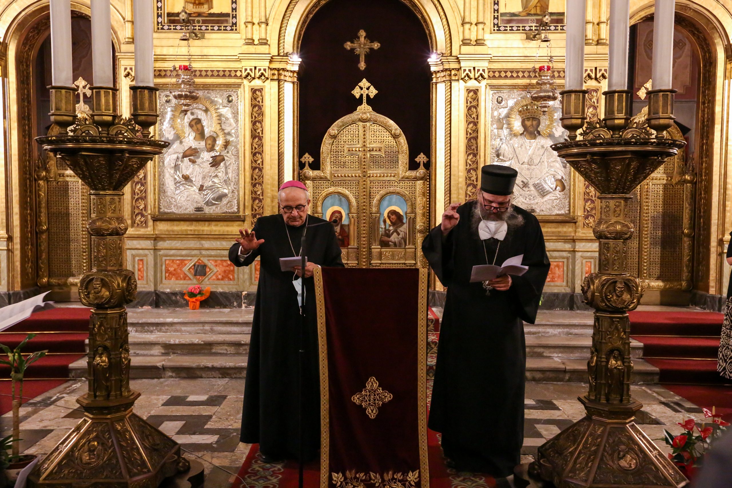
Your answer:
[[[86,357],[69,365],[69,378],[86,378]],[[132,356],[130,378],[244,378],[247,356]]]

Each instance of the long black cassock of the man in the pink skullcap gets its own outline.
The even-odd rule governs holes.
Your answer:
[[[326,222],[312,215],[307,225]],[[259,217],[254,225],[264,243],[239,260],[239,244],[229,249],[236,266],[249,266],[260,258],[259,285],[254,306],[252,337],[244,383],[241,440],[258,443],[272,457],[299,457],[298,440],[298,351],[302,319],[294,273],[280,271],[280,258],[299,254],[305,225],[291,227],[281,214]],[[288,239],[289,234],[289,239]],[[291,244],[292,243],[292,244]],[[294,248],[294,252],[293,252]],[[340,247],[332,224],[307,229],[305,255],[311,263],[343,267]],[[320,380],[318,379],[318,334],[315,315],[315,285],[305,279],[307,337],[305,344],[305,459],[313,459],[320,447]]]

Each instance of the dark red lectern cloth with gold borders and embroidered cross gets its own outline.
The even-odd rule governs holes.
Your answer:
[[[318,269],[315,290],[321,488],[428,488],[427,270]]]

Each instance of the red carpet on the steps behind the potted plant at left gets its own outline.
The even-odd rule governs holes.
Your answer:
[[[0,343],[14,349],[29,332],[35,332],[23,353],[48,350],[48,354],[26,369],[23,397],[37,397],[69,378],[69,364],[85,354],[89,336],[89,309],[62,307],[43,310],[0,332]],[[7,379],[6,379],[7,378]],[[10,367],[0,364],[0,394],[10,394]],[[23,403],[28,400],[23,400]],[[10,397],[0,396],[0,415],[12,408]]]

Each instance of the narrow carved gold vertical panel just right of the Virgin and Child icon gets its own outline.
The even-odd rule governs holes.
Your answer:
[[[252,225],[264,215],[264,87],[250,89]]]

